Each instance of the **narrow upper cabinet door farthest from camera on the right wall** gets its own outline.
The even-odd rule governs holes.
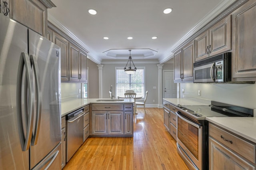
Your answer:
[[[182,73],[182,50],[174,53],[174,81],[181,81]]]

